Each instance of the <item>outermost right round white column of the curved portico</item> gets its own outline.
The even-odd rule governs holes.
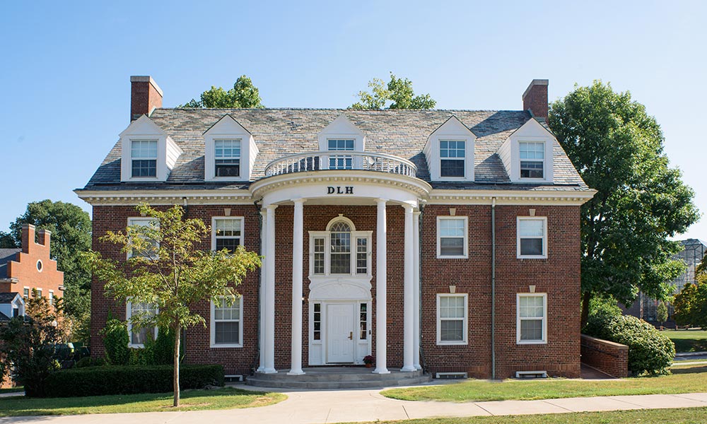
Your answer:
[[[412,372],[415,370],[414,365],[414,243],[412,229],[412,206],[404,204],[405,208],[405,284],[404,284],[404,317],[403,317],[403,366],[401,371]]]

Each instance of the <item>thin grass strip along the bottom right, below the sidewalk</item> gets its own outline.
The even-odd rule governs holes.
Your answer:
[[[648,409],[639,411],[556,413],[532,416],[426,418],[375,421],[375,424],[703,424],[707,408]],[[373,423],[357,423],[373,424]]]

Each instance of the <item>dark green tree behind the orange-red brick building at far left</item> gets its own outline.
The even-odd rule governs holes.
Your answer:
[[[88,325],[90,316],[90,270],[81,254],[91,245],[90,216],[80,207],[62,201],[33,201],[27,210],[10,224],[16,245],[22,242],[22,225],[52,232],[49,254],[57,259],[64,272],[64,312]]]

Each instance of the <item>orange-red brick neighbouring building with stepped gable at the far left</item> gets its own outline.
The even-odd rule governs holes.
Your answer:
[[[49,256],[51,236],[47,230],[35,235],[35,226],[25,224],[21,248],[0,249],[0,293],[19,293],[27,300],[35,291],[52,304],[62,297],[64,273]]]

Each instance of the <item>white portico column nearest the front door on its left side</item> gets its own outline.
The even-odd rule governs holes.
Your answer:
[[[305,199],[295,200],[292,229],[292,350],[290,372],[302,375],[302,249],[304,239],[303,211]]]

